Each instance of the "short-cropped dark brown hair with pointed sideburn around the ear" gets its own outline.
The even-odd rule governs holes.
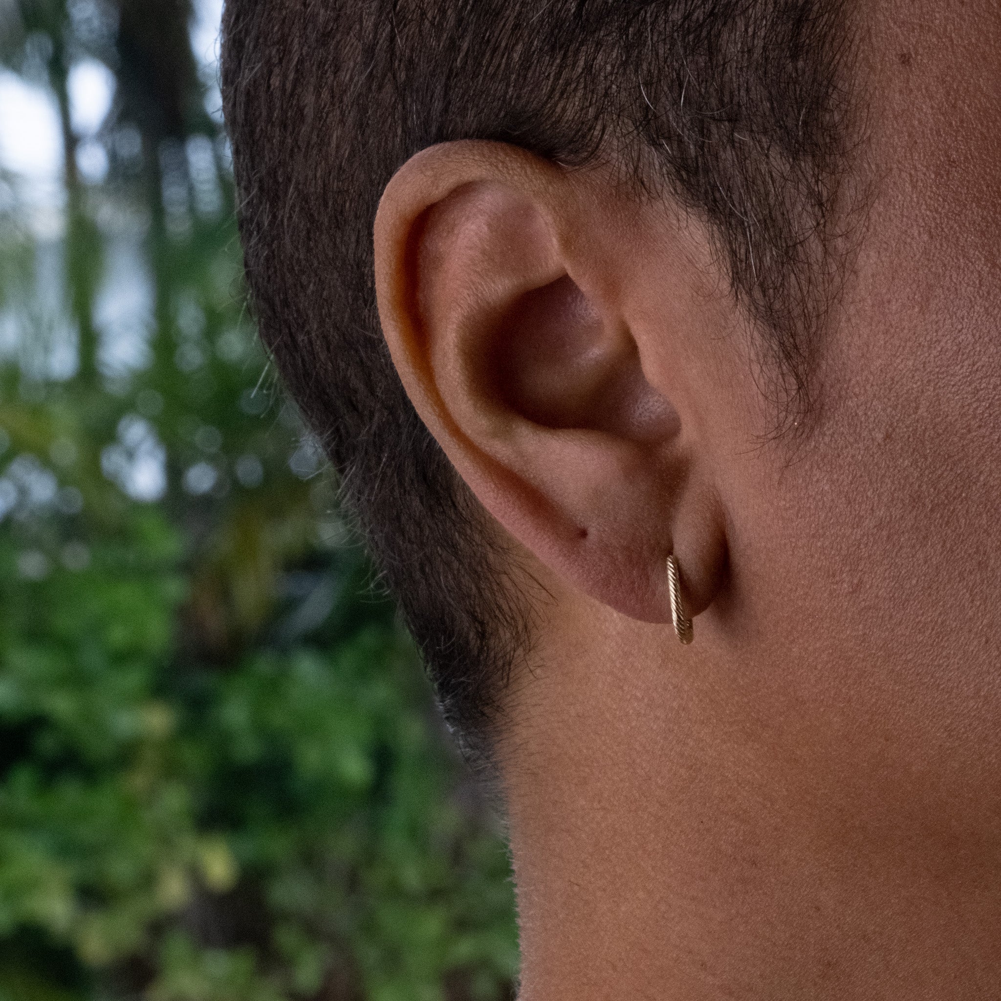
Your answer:
[[[762,370],[797,412],[838,273],[850,52],[838,0],[227,0],[260,331],[466,737],[489,733],[531,602],[389,360],[372,277],[383,188],[452,139],[617,165],[710,224]]]

